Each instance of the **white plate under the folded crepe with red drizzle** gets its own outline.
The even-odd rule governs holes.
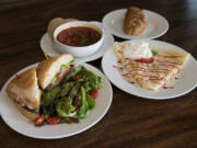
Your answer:
[[[126,43],[129,43],[127,41]],[[174,49],[185,52],[183,48],[175,45],[160,42],[160,41],[147,41],[150,47],[160,48],[160,49]],[[126,91],[130,94],[138,95],[147,99],[157,99],[165,100],[172,99],[179,95],[183,95],[192,91],[197,86],[197,61],[195,58],[189,55],[189,59],[185,62],[185,66],[182,68],[181,73],[178,75],[179,79],[174,80],[173,82],[167,83],[167,86],[173,86],[174,89],[160,89],[158,91],[150,91],[143,88],[140,88],[137,83],[131,84],[127,82],[119,71],[113,66],[117,65],[117,57],[114,53],[113,47],[103,56],[102,68],[107,78],[114,83],[117,88]]]

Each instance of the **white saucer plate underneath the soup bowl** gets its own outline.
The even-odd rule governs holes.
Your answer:
[[[97,23],[97,24],[102,25],[101,23]],[[74,59],[77,62],[95,60],[97,58],[101,58],[113,44],[114,44],[113,35],[111,35],[107,31],[104,31],[103,45],[96,53],[94,53],[90,56],[86,56],[86,57],[76,57]],[[51,57],[61,54],[55,48],[55,46],[54,46],[51,39],[48,37],[47,33],[45,33],[40,39],[40,48],[42,48],[43,53],[47,53]]]

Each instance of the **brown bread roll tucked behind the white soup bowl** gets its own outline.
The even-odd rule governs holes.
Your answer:
[[[61,24],[67,22],[78,21],[77,19],[62,19],[62,18],[55,18],[48,23],[48,35],[51,41],[54,41],[54,31]]]

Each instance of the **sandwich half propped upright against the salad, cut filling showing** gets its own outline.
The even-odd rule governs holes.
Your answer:
[[[69,73],[70,64],[74,58],[69,55],[59,55],[42,61],[37,67],[38,82],[43,90],[51,90]]]

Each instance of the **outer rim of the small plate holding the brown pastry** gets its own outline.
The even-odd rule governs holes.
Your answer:
[[[123,13],[124,11],[126,11],[127,9],[124,8],[124,9],[117,9],[117,10],[113,10],[113,11],[109,11],[108,13],[106,13],[103,19],[102,19],[102,24],[104,27],[106,27],[106,30],[108,30],[108,32],[117,37],[120,37],[120,38],[124,38],[124,39],[154,39],[154,38],[158,38],[158,37],[161,37],[162,35],[164,35],[167,31],[169,31],[169,27],[170,27],[170,24],[169,24],[169,21],[163,16],[161,15],[160,13],[158,12],[154,12],[154,11],[151,11],[151,10],[147,10],[147,9],[142,9],[144,12],[149,12],[149,13],[154,13],[157,14],[158,16],[160,16],[161,19],[163,19],[163,21],[165,22],[165,30],[158,34],[158,35],[154,35],[154,36],[150,36],[150,37],[136,37],[134,35],[127,35],[127,34],[119,34],[118,32],[113,32],[113,29],[111,29],[106,23],[105,23],[105,20],[106,18],[112,14],[112,13],[115,13],[117,11],[120,11],[120,13]]]

